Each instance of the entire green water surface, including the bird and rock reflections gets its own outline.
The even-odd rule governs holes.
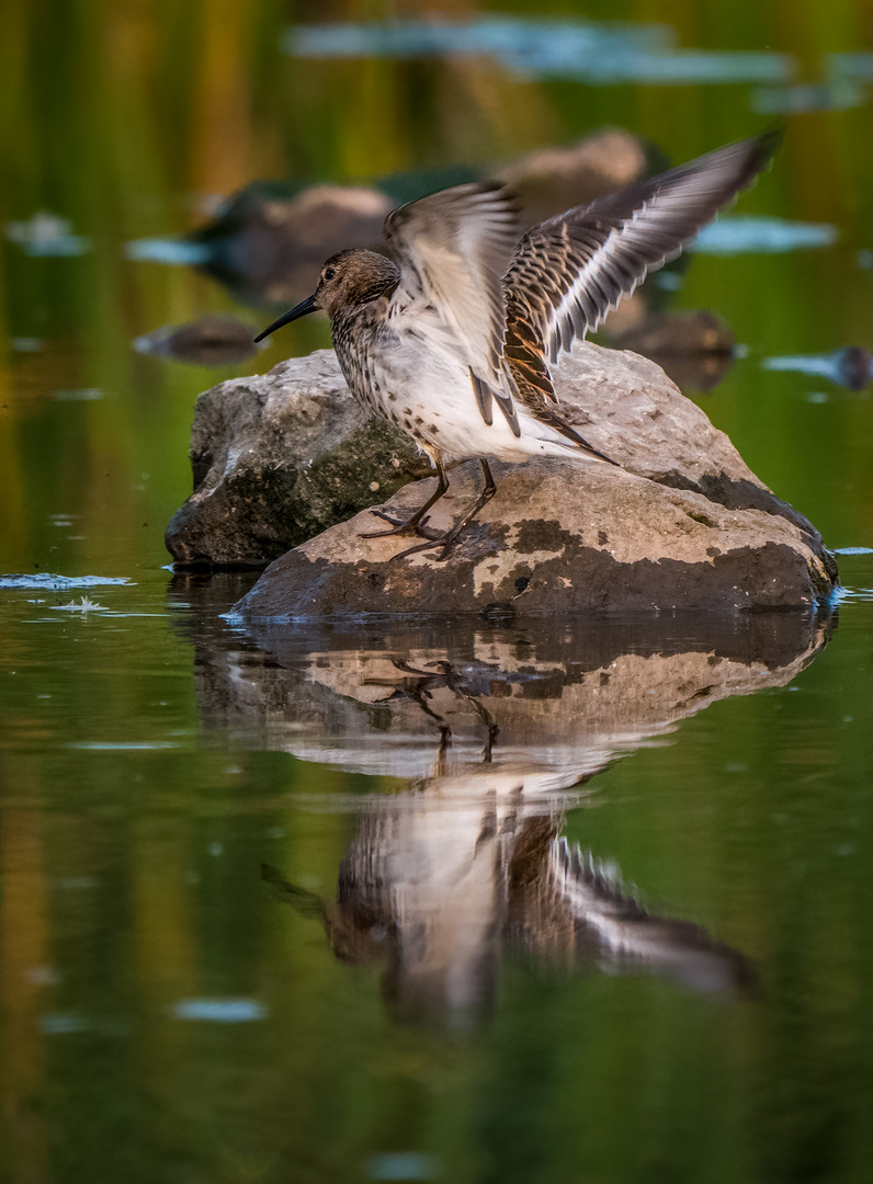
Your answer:
[[[327,329],[240,367],[139,354],[274,310],[127,244],[255,179],[606,123],[680,161],[811,104],[739,212],[835,244],[698,255],[672,307],[747,347],[713,422],[869,548],[869,390],[762,365],[873,346],[867,11],[592,4],[629,25],[584,69],[543,39],[572,5],[444,11],[476,56],[288,37],[381,15],[5,6],[0,223],[68,219],[73,253],[0,249],[0,573],[31,578],[0,587],[0,1179],[866,1180],[873,554],[817,620],[246,632],[222,613],[251,577],[163,566],[193,403]]]

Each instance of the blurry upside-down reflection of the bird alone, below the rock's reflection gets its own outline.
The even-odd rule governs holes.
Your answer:
[[[365,815],[335,902],[263,866],[277,899],[320,920],[341,961],[383,966],[396,1019],[463,1027],[488,1017],[498,965],[513,951],[577,972],[662,974],[694,991],[753,985],[742,953],[699,925],[648,912],[612,868],[559,838],[563,819],[484,818],[473,845],[431,825],[443,832],[428,851],[421,838],[397,847],[406,838],[399,821]]]

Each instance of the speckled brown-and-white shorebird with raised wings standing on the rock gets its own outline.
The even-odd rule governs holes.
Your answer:
[[[520,237],[514,194],[473,182],[400,206],[385,220],[393,258],[340,251],[315,292],[255,341],[308,313],[330,317],[354,398],[406,431],[431,461],[434,494],[405,521],[364,538],[416,530],[442,547],[494,496],[490,458],[614,464],[560,416],[550,366],[595,330],[646,276],[674,259],[749,186],[779,134],[764,133],[550,218]],[[425,525],[449,488],[447,463],[477,459],[484,488],[443,534]]]

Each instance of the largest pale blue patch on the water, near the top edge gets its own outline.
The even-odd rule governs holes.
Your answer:
[[[524,20],[389,20],[289,28],[285,53],[297,58],[489,57],[507,70],[576,78],[590,85],[788,83],[795,62],[770,51],[678,49],[667,25]]]

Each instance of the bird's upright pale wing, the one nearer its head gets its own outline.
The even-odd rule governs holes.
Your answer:
[[[519,239],[515,197],[489,182],[443,189],[390,213],[385,238],[402,271],[394,298],[432,304],[467,363],[501,385],[502,276]]]

